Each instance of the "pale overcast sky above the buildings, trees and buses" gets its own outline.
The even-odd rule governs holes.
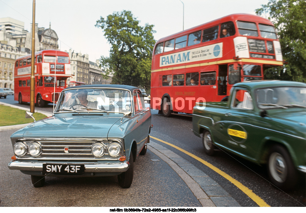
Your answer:
[[[255,14],[268,0],[36,0],[35,23],[58,35],[60,50],[88,54],[95,62],[109,55],[109,44],[95,24],[100,17],[129,10],[140,25],[153,24],[155,40],[233,13]],[[24,22],[31,31],[32,0],[0,0],[0,17]]]

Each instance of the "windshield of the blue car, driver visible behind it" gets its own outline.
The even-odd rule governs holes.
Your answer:
[[[132,111],[131,93],[113,88],[78,88],[62,91],[55,112],[86,111],[116,112]]]

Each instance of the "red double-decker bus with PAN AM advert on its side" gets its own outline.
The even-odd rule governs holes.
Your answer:
[[[226,101],[233,84],[262,80],[282,66],[271,21],[232,14],[159,39],[153,49],[151,109],[192,113],[196,102]]]

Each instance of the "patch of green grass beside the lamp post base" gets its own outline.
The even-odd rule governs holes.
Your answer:
[[[47,118],[46,115],[41,113],[34,113],[33,116],[36,121]],[[25,118],[25,110],[0,105],[0,126],[26,124],[33,121],[33,118]]]

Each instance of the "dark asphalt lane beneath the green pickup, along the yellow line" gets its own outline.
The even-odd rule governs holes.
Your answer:
[[[214,156],[206,155],[203,150],[201,138],[195,136],[192,132],[191,117],[173,115],[171,118],[165,118],[161,114],[157,114],[157,112],[157,110],[152,110],[152,123],[154,125],[151,133],[152,136],[185,149],[218,167],[244,186],[253,190],[256,195],[271,206],[305,205],[305,176],[301,177],[300,185],[297,189],[289,193],[282,192],[268,182],[269,179],[266,167],[264,166],[258,166],[221,150]],[[189,162],[193,163],[199,169],[203,170],[204,173],[212,177],[218,184],[222,185],[241,206],[253,206],[254,202],[248,197],[245,198],[244,193],[233,186],[233,184],[224,177],[221,177],[207,166],[204,166],[202,163],[199,163],[197,160],[185,155],[181,151],[177,151],[168,145],[165,146],[171,151],[184,156]]]

